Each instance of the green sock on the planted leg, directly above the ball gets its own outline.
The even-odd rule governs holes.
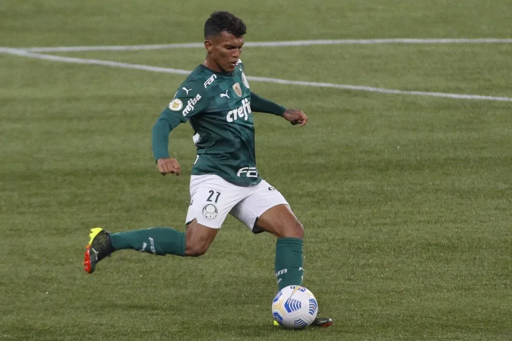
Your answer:
[[[275,243],[275,278],[278,291],[288,285],[302,285],[302,239],[278,238]]]

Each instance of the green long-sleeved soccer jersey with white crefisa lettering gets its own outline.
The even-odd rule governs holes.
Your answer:
[[[227,74],[199,65],[160,115],[159,121],[169,122],[170,128],[159,130],[157,121],[153,129],[155,157],[168,157],[165,134],[176,125],[172,122],[188,121],[194,129],[197,149],[191,174],[216,174],[238,186],[258,184],[261,177],[256,168],[251,95],[258,101],[260,111],[280,115],[285,110],[250,92],[240,60],[236,69]],[[266,106],[262,101],[267,102]]]

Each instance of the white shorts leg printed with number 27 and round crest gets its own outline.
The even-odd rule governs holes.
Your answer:
[[[185,224],[196,219],[203,226],[220,229],[229,211],[245,197],[244,190],[217,175],[192,175]]]

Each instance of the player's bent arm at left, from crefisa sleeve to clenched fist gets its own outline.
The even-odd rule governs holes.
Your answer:
[[[169,133],[180,123],[186,122],[189,117],[206,108],[207,100],[202,86],[203,83],[194,80],[182,84],[174,99],[160,113],[160,117],[153,126],[153,155],[157,162],[158,171],[162,175],[167,173],[180,174],[178,161],[169,156]]]

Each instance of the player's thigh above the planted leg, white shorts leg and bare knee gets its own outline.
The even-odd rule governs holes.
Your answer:
[[[290,209],[283,195],[262,180],[253,193],[240,201],[230,212],[253,233],[269,232],[278,237],[303,236],[302,224]]]

